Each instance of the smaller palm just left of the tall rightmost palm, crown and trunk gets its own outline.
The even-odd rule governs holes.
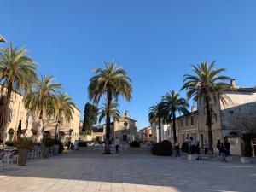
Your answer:
[[[176,113],[189,113],[189,103],[184,98],[180,98],[179,93],[176,93],[174,90],[170,93],[166,93],[166,96],[162,97],[162,102],[164,104],[164,110],[166,110],[166,113],[168,113],[170,121],[172,122],[173,142],[175,143],[177,139]]]

